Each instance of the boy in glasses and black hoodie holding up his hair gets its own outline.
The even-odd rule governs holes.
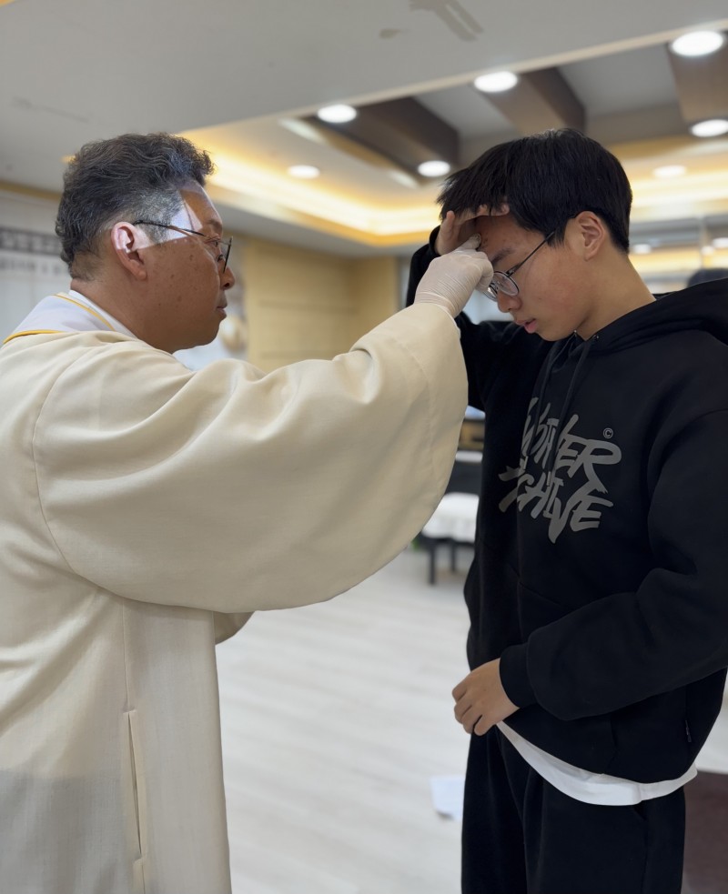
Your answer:
[[[460,316],[485,412],[463,894],[677,894],[683,783],[728,664],[728,296],[654,301],[628,256],[617,159],[572,130],[450,177],[512,323]]]

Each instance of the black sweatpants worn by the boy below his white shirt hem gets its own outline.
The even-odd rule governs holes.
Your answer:
[[[633,807],[569,798],[500,730],[470,738],[462,894],[680,894],[682,789]]]

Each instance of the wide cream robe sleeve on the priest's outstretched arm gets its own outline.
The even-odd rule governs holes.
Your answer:
[[[223,613],[323,601],[420,531],[465,406],[458,330],[436,306],[268,374],[102,342],[37,418],[45,524],[70,572],[124,598]]]

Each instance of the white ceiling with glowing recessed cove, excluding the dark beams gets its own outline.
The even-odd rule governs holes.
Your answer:
[[[558,66],[587,132],[632,178],[638,233],[728,226],[728,138],[687,136],[665,50],[696,26],[728,29],[727,12],[725,0],[15,0],[0,5],[0,183],[57,193],[63,157],[87,140],[169,130],[211,150],[230,229],[406,254],[437,220],[438,184],[404,186],[281,120],[415,96],[458,131],[467,164],[518,136],[472,78]],[[676,160],[690,189],[665,197],[652,167]],[[294,163],[322,176],[293,181]]]

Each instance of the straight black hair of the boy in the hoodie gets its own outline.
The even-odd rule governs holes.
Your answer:
[[[632,188],[616,156],[572,128],[547,130],[491,146],[471,165],[452,174],[438,201],[441,217],[508,204],[519,226],[561,242],[567,222],[592,211],[609,228],[612,242],[630,247]]]

